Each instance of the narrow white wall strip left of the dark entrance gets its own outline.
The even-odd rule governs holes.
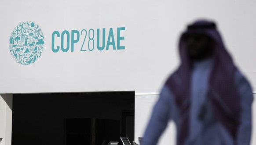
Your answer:
[[[0,94],[0,145],[11,145],[12,94]]]

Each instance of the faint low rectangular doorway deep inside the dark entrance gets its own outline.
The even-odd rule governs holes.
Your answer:
[[[120,120],[69,118],[65,126],[66,145],[101,145],[120,138]]]

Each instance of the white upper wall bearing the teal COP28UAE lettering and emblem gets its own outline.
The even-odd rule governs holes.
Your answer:
[[[0,93],[158,92],[179,64],[180,33],[216,20],[235,62],[256,84],[256,2],[0,1]]]

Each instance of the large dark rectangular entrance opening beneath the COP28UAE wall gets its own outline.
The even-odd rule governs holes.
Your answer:
[[[134,140],[134,92],[14,94],[12,145]]]

